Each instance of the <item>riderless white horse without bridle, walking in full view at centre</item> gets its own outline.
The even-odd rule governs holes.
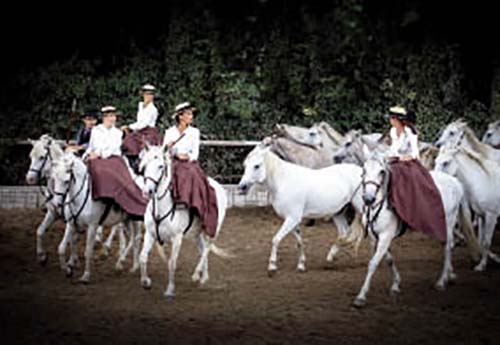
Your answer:
[[[323,169],[309,169],[281,160],[264,143],[256,146],[243,164],[245,172],[239,182],[239,190],[245,193],[253,184],[265,185],[274,210],[284,219],[272,241],[267,268],[270,275],[278,268],[279,243],[292,231],[299,248],[297,270],[306,270],[304,245],[299,229],[303,218],[334,216],[340,236],[346,236],[349,226],[341,211],[349,203],[352,203],[358,212],[361,208],[361,168],[356,165],[341,164]],[[332,261],[338,250],[339,248],[333,245],[327,260]]]

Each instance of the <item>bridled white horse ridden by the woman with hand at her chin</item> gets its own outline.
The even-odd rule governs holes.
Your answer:
[[[205,284],[208,281],[208,254],[210,252],[221,257],[231,257],[214,243],[226,215],[227,196],[224,188],[217,181],[208,178],[210,186],[215,190],[218,209],[216,234],[211,238],[202,230],[201,220],[198,216],[190,215],[189,210],[185,208],[179,206],[179,209],[177,209],[174,206],[170,193],[172,177],[170,153],[165,153],[162,147],[149,145],[146,145],[144,152],[140,163],[140,170],[144,172],[146,179],[143,193],[148,195],[151,200],[144,215],[146,232],[140,254],[141,285],[145,289],[151,287],[147,263],[154,243],[156,241],[160,243],[171,241],[172,252],[168,261],[169,278],[164,293],[166,298],[171,299],[175,296],[175,270],[184,235],[196,240],[200,251],[200,259],[192,275],[194,282]],[[192,224],[190,224],[191,222]]]

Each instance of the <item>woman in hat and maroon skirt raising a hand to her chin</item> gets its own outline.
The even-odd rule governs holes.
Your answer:
[[[218,217],[217,199],[198,163],[200,131],[192,126],[195,110],[189,102],[177,105],[172,115],[176,124],[165,131],[164,141],[173,156],[172,197],[176,204],[196,212],[205,232],[214,236]]]

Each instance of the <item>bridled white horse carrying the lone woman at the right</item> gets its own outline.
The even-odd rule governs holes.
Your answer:
[[[366,150],[366,148],[365,148]],[[369,155],[369,152],[366,152]],[[389,173],[388,163],[380,154],[371,156],[363,166],[363,201],[365,211],[363,225],[375,242],[375,253],[368,264],[368,273],[364,284],[354,300],[355,307],[362,307],[366,302],[366,295],[370,289],[373,274],[380,261],[385,258],[392,272],[390,292],[397,295],[400,292],[401,278],[389,251],[392,240],[398,236],[400,219],[388,205]],[[444,290],[449,281],[456,278],[451,261],[453,228],[460,216],[461,225],[471,245],[471,249],[480,251],[475,240],[472,225],[470,224],[469,207],[464,198],[460,182],[452,176],[438,171],[431,171],[431,176],[441,194],[446,216],[446,245],[444,248],[444,264],[442,274],[437,281],[436,288]]]

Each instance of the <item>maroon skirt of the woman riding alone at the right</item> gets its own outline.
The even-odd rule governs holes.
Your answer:
[[[441,194],[429,171],[417,160],[390,163],[389,200],[410,228],[446,241],[446,216]]]

